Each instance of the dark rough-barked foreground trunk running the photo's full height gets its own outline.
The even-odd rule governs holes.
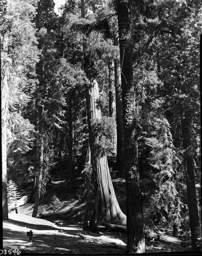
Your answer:
[[[132,51],[127,1],[117,0],[124,124],[124,169],[127,196],[127,252],[145,252],[143,205],[137,147],[137,117],[132,78]]]

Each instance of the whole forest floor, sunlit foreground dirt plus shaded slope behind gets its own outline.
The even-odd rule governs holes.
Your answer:
[[[111,169],[112,170],[112,169]],[[117,199],[125,213],[125,181],[111,172]],[[50,254],[125,254],[127,235],[120,232],[93,233],[82,230],[85,202],[81,200],[80,189],[70,193],[64,172],[56,171],[47,195],[39,205],[38,218],[32,218],[34,204],[18,207],[18,214],[9,214],[9,221],[3,223],[4,249],[19,249],[22,253]],[[57,209],[50,206],[50,198],[56,195],[60,200]],[[150,223],[150,209],[144,207],[147,228]],[[29,242],[27,232],[33,231],[33,241]],[[190,243],[172,244],[146,239],[146,252],[188,252]]]

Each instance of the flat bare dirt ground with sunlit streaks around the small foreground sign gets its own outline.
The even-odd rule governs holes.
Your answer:
[[[125,254],[126,234],[83,231],[77,224],[58,227],[54,223],[27,215],[9,214],[3,223],[4,249],[23,253],[50,254]],[[32,243],[27,232],[33,231]],[[179,245],[146,241],[146,252],[181,252]]]

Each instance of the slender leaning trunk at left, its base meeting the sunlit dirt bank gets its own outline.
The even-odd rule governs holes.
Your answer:
[[[39,169],[36,172],[36,195],[35,195],[35,203],[34,210],[32,213],[32,217],[36,218],[40,200],[40,192],[41,192],[41,182],[43,175],[43,149],[44,149],[44,131],[43,131],[43,107],[39,107]]]

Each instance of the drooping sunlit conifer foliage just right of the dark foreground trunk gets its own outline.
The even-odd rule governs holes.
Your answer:
[[[144,146],[149,152],[147,162],[150,162],[151,166],[158,166],[155,172],[150,174],[157,185],[150,191],[153,221],[155,224],[165,222],[167,225],[175,224],[180,227],[185,220],[187,205],[184,198],[185,185],[179,170],[181,161],[174,151],[170,124],[165,118],[151,119],[150,116],[148,132],[139,140],[140,145],[144,141]],[[142,150],[143,148],[140,148],[141,154],[145,154],[145,149]],[[147,175],[149,177],[149,173]],[[148,191],[146,194],[148,195]]]

